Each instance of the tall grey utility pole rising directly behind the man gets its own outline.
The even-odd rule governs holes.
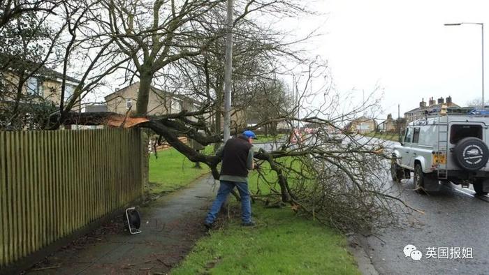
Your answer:
[[[224,68],[224,142],[231,136],[231,73],[233,70],[233,0],[228,0],[226,67]]]

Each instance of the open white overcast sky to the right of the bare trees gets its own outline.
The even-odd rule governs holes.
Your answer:
[[[367,94],[379,85],[384,115],[393,117],[397,104],[402,116],[421,98],[452,96],[458,105],[481,98],[481,26],[444,23],[489,23],[489,1],[324,0],[317,5],[324,15],[302,22],[322,25],[315,51],[328,59],[339,91],[356,89],[361,98],[362,90]],[[488,45],[489,40],[486,50]]]

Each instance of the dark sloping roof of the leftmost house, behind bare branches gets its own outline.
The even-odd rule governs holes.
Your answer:
[[[41,65],[35,61],[25,60],[20,57],[8,56],[6,54],[0,54],[0,64],[11,64],[11,66],[8,66],[9,68],[26,68],[27,70],[29,68],[37,68]],[[9,68],[6,68],[6,70],[15,73],[15,70]],[[44,65],[41,65],[41,67],[38,68],[34,75],[38,77],[45,77],[50,80],[63,79],[62,73],[59,73],[56,70],[48,68]],[[80,80],[77,80],[74,77],[70,77],[68,75],[66,75],[65,79],[70,82],[80,83]]]

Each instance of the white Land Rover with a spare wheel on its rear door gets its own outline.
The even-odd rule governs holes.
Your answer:
[[[413,171],[418,191],[451,181],[472,184],[477,195],[484,195],[489,191],[489,117],[467,108],[446,111],[408,124],[401,145],[394,147],[392,178],[409,179]]]

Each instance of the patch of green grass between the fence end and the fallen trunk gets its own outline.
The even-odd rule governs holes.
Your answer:
[[[175,191],[210,172],[205,164],[200,164],[201,169],[194,168],[194,166],[195,163],[173,148],[159,151],[158,158],[151,154],[149,157],[149,194]]]

